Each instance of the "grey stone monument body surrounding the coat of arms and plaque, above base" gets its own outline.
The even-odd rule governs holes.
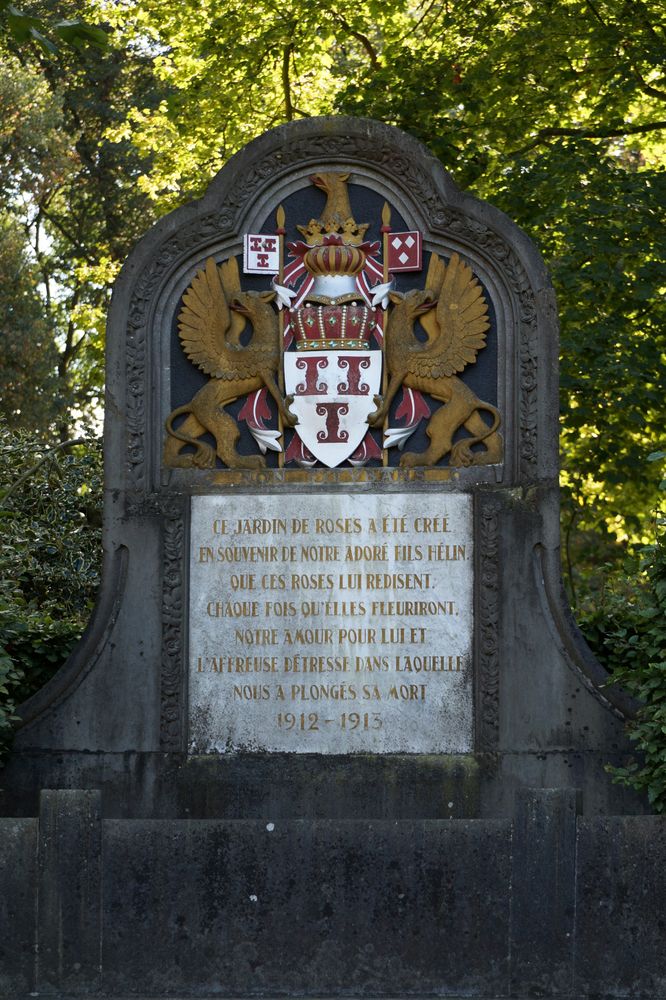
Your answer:
[[[477,390],[496,400],[502,414],[501,465],[296,471],[272,466],[259,478],[238,470],[233,481],[219,468],[163,467],[163,419],[178,385],[172,375],[182,355],[176,327],[184,291],[210,256],[225,260],[239,254],[243,234],[260,231],[277,205],[295,206],[297,221],[303,213],[312,217],[320,211],[323,195],[308,180],[315,170],[349,171],[352,195],[360,198],[356,204],[363,212],[367,207],[369,219],[387,200],[395,219],[424,232],[427,252],[434,248],[444,259],[458,253],[478,276],[491,316],[485,350],[494,352],[494,360],[482,363],[483,385]],[[412,277],[400,280],[407,288]],[[257,281],[264,287],[264,278]],[[510,816],[516,789],[538,785],[580,788],[586,810],[641,808],[603,771],[606,760],[623,753],[621,712],[628,703],[602,688],[605,675],[563,607],[554,300],[538,254],[510,220],[458,191],[423,147],[396,130],[351,119],[292,123],[250,144],[200,202],[162,220],[146,236],[114,291],[108,348],[103,593],[84,642],[22,708],[25,724],[3,783],[6,809],[34,814],[39,786],[94,788],[102,776],[108,788],[105,809],[114,815],[194,815],[212,808],[209,802],[226,816],[234,808],[249,815],[257,801],[275,797],[265,786],[271,769],[261,759],[262,747],[276,746],[270,740],[256,743],[255,765],[226,753],[229,762],[223,765],[217,755],[219,777],[212,788],[219,794],[208,798],[196,786],[190,794],[186,778],[187,748],[194,743],[191,708],[197,704],[195,696],[188,705],[187,685],[196,639],[196,623],[193,633],[189,622],[190,507],[217,498],[230,507],[240,502],[251,514],[268,494],[293,516],[302,502],[316,502],[303,497],[332,494],[354,503],[370,495],[407,494],[415,508],[448,498],[470,504],[472,709],[464,708],[458,742],[446,744],[441,727],[411,725],[407,704],[405,729],[414,730],[409,744],[388,740],[381,749],[471,752],[473,778],[462,798],[477,801],[484,816]],[[188,364],[185,359],[187,385],[178,390],[186,395],[196,390],[187,381]],[[225,626],[219,639],[223,650],[229,648],[233,629]],[[447,642],[437,635],[433,656],[450,655]],[[219,750],[219,733],[216,741]],[[204,742],[203,749],[209,746]],[[311,744],[315,754],[336,748],[346,749]],[[280,744],[280,749],[289,748]],[[335,785],[338,815],[365,809],[359,790],[372,784],[377,765],[367,761],[364,782],[357,780],[359,762],[345,786],[336,754],[326,757],[316,766],[312,788]],[[309,793],[307,767],[280,762],[279,784],[288,788],[293,782],[303,790],[305,815],[323,815],[326,797]],[[222,794],[242,781],[256,795]],[[412,806],[421,816],[433,810],[441,815],[439,805],[431,807],[407,784],[370,801],[373,812],[383,802],[386,818],[404,816]]]

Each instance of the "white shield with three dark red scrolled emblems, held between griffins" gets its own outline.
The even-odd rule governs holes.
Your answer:
[[[284,355],[296,433],[329,469],[352,455],[368,431],[382,381],[382,352],[296,351]]]

